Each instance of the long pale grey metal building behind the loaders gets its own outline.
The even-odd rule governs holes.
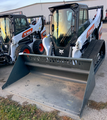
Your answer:
[[[48,9],[49,7],[56,6],[56,5],[61,5],[61,4],[67,4],[67,3],[74,3],[74,2],[87,4],[89,7],[103,5],[104,6],[103,15],[105,17],[105,14],[106,14],[105,11],[107,9],[107,0],[80,0],[80,1],[72,1],[72,2],[35,3],[35,4],[32,4],[32,5],[25,6],[25,7],[0,12],[0,14],[22,11],[23,14],[26,15],[26,16],[44,15],[46,17],[46,21],[48,21],[49,20],[48,19],[49,14],[50,14],[50,11]],[[96,11],[94,10],[94,11],[91,12],[90,17],[92,18],[95,14],[96,14]]]

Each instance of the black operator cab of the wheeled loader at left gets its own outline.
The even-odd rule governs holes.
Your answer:
[[[12,37],[25,31],[30,26],[24,15],[0,15],[0,45],[8,53]]]

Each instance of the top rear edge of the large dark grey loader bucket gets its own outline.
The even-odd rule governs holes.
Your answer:
[[[49,57],[49,58],[57,58],[57,59],[66,59],[66,60],[79,60],[79,61],[90,61],[92,62],[93,59],[89,58],[72,58],[72,57],[60,57],[60,56],[47,56],[47,55],[39,55],[39,54],[28,54],[28,53],[19,53],[19,55],[29,55],[29,56],[38,56],[38,57]]]

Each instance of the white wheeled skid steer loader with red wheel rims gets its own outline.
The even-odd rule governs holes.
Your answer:
[[[0,15],[0,65],[15,62],[20,52],[44,53],[42,39],[46,29],[43,16],[37,17],[37,23],[29,24],[22,14]]]

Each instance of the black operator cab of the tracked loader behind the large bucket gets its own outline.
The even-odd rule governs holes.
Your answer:
[[[69,56],[70,47],[90,24],[88,7],[77,3],[49,8],[52,13],[51,35],[55,56]],[[84,24],[88,21],[88,24]],[[84,25],[83,25],[84,24]],[[71,52],[72,53],[72,52]]]

